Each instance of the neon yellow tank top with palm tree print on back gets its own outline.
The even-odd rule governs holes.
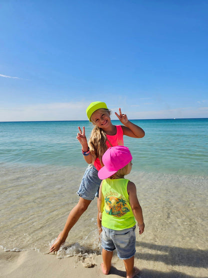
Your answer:
[[[105,179],[102,181],[104,209],[102,226],[112,230],[123,230],[135,225],[127,193],[128,179]]]

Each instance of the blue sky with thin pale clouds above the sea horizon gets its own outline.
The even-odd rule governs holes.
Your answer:
[[[208,117],[206,0],[0,1],[0,121]],[[115,119],[112,116],[112,119]]]

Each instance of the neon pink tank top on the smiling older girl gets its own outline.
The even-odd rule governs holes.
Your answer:
[[[116,134],[115,135],[106,135],[107,139],[106,140],[106,145],[107,148],[109,149],[110,147],[115,147],[115,146],[123,146],[123,130],[121,126],[116,126]],[[111,145],[110,145],[111,144]],[[97,157],[94,161],[94,167],[99,171],[101,168],[101,164],[99,161],[99,158]]]

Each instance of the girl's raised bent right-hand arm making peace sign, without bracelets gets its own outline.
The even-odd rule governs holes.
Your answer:
[[[133,138],[142,138],[145,135],[145,132],[139,126],[131,123],[126,114],[122,114],[119,108],[119,115],[115,112],[115,115],[118,117],[119,121],[124,125],[121,126],[123,134]]]

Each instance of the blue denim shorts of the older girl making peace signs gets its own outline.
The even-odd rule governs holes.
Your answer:
[[[97,176],[97,169],[93,165],[89,165],[82,177],[78,191],[78,196],[85,200],[93,200],[94,197],[98,197],[99,186],[101,179]]]

